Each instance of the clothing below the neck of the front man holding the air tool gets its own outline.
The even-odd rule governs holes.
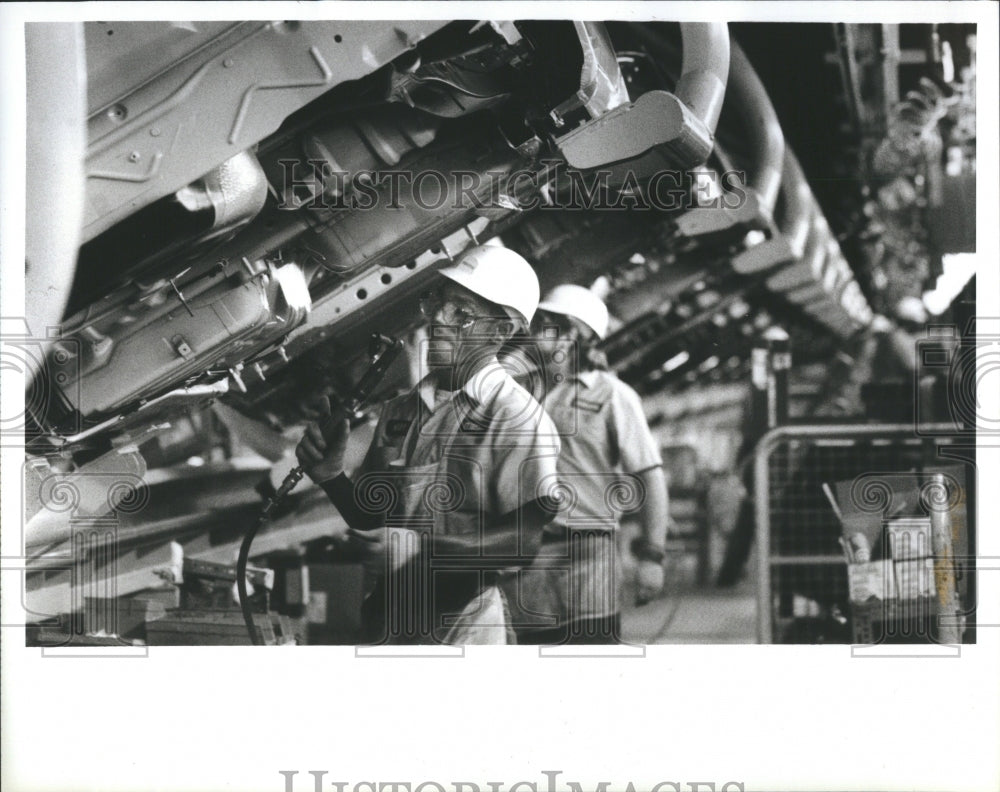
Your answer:
[[[551,419],[496,360],[456,392],[427,379],[387,402],[354,494],[362,509],[385,515],[409,558],[366,601],[370,639],[512,639],[496,581],[530,563],[542,520],[522,521],[517,509],[555,486],[558,454]]]

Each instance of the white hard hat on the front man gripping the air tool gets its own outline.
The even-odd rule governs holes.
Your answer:
[[[538,276],[524,258],[510,248],[478,245],[470,248],[443,275],[484,300],[501,306],[524,328],[538,308]]]

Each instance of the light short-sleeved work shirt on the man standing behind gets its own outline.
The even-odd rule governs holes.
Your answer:
[[[559,431],[559,480],[572,499],[557,520],[616,528],[643,497],[633,474],[663,464],[639,395],[610,372],[586,371],[552,388],[545,411]]]

